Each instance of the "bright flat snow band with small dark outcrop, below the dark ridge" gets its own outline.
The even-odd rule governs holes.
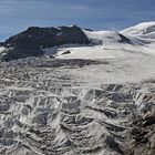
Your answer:
[[[142,49],[142,48],[141,48]],[[143,54],[140,46],[110,44],[95,46],[59,48],[55,58],[58,59],[90,59],[103,60],[124,56],[136,56]]]

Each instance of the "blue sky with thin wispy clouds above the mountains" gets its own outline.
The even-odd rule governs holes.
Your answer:
[[[0,0],[0,40],[31,25],[122,30],[155,21],[155,0]]]

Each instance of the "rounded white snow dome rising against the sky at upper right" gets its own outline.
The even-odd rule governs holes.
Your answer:
[[[143,22],[121,31],[122,34],[155,39],[155,22]]]

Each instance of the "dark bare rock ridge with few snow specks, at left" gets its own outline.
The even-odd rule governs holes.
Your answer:
[[[28,30],[9,38],[3,45],[10,50],[2,56],[3,60],[14,60],[28,56],[43,55],[42,49],[62,44],[89,44],[90,41],[83,31],[76,27],[39,28]]]

